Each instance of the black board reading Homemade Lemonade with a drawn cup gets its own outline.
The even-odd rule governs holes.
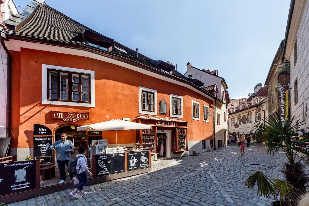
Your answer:
[[[35,160],[1,163],[0,171],[0,195],[36,188]]]

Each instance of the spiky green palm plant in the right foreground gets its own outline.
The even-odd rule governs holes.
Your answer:
[[[308,152],[301,149],[303,133],[309,128],[300,128],[302,123],[293,123],[294,117],[290,120],[281,121],[278,113],[274,116],[265,117],[265,123],[257,122],[253,125],[252,131],[256,135],[257,141],[266,142],[267,153],[274,155],[279,151],[283,152],[288,162],[271,165],[251,174],[245,185],[252,189],[257,186],[257,194],[265,197],[274,196],[276,205],[295,205],[300,195],[306,192],[305,185],[308,177],[304,173],[301,160],[308,157]],[[305,157],[296,160],[296,152],[302,152]],[[284,174],[283,180],[267,177],[263,172],[272,167],[282,167],[280,170]],[[278,196],[280,200],[278,201]]]

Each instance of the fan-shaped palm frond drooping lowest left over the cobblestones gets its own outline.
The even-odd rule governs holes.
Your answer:
[[[270,197],[274,195],[274,190],[272,187],[272,180],[269,179],[263,172],[257,171],[251,174],[245,182],[245,186],[249,189],[253,189],[257,185],[257,195],[263,195],[265,197]]]

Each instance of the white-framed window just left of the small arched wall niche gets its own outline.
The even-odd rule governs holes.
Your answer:
[[[157,115],[157,90],[139,87],[139,113]]]

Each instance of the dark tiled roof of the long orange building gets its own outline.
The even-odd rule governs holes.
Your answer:
[[[34,1],[32,0],[29,4],[32,4],[33,2]],[[17,29],[16,31],[7,29],[2,30],[2,32],[5,32],[9,36],[9,38],[22,37],[38,41],[50,42],[51,44],[55,43],[60,45],[64,44],[68,46],[73,45],[84,48],[90,48],[91,50],[97,50],[100,53],[107,53],[107,54],[111,53],[118,57],[123,57],[128,60],[138,62],[142,65],[151,67],[153,69],[161,70],[160,68],[150,64],[150,61],[155,60],[146,57],[141,53],[138,53],[137,57],[136,50],[130,49],[116,41],[114,41],[112,45],[112,50],[110,52],[88,45],[83,40],[82,36],[85,30],[93,32],[94,34],[97,34],[99,36],[103,35],[90,29],[89,27],[84,26],[81,23],[78,23],[77,21],[62,14],[60,11],[57,11],[56,9],[52,8],[47,4],[44,5],[39,4],[37,6],[37,9],[34,10],[33,16],[31,16],[31,18],[28,21],[27,20],[25,20],[26,23],[22,22],[19,25],[20,28]],[[116,47],[125,50],[126,53],[116,49]],[[171,62],[168,62],[167,64],[172,65]],[[178,78],[191,82],[197,85],[198,87],[204,85],[201,81],[197,79],[191,79],[185,77],[184,75],[177,72],[175,69],[172,70],[171,74]],[[207,93],[210,96],[213,96],[207,90],[205,90],[205,93]]]

